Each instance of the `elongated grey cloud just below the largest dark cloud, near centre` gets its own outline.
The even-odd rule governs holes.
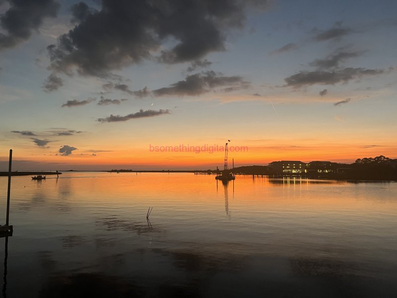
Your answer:
[[[222,74],[208,71],[202,74],[187,75],[185,80],[171,84],[170,87],[153,90],[153,94],[155,96],[195,96],[209,92],[216,87],[245,88],[248,85],[249,82],[244,81],[241,76],[223,76]]]

